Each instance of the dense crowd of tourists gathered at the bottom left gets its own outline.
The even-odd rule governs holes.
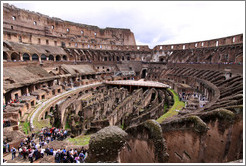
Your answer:
[[[12,160],[16,157],[33,161],[43,158],[44,155],[53,155],[56,163],[82,163],[87,157],[87,150],[82,147],[77,149],[54,149],[48,144],[54,140],[62,141],[68,136],[67,130],[52,128],[42,128],[38,134],[32,133],[20,142],[18,149],[9,148],[9,144],[4,142],[4,152],[11,152]],[[39,143],[35,143],[35,140]],[[46,146],[47,145],[47,146]],[[18,155],[18,156],[17,156]]]

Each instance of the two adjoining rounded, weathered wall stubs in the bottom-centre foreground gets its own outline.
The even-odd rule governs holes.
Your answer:
[[[163,163],[168,161],[166,150],[160,125],[148,120],[126,131],[109,126],[95,133],[86,162]]]

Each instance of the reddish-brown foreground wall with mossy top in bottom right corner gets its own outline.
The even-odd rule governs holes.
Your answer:
[[[161,124],[168,162],[218,163],[242,158],[242,112],[215,112],[203,113],[200,121],[187,117]]]

